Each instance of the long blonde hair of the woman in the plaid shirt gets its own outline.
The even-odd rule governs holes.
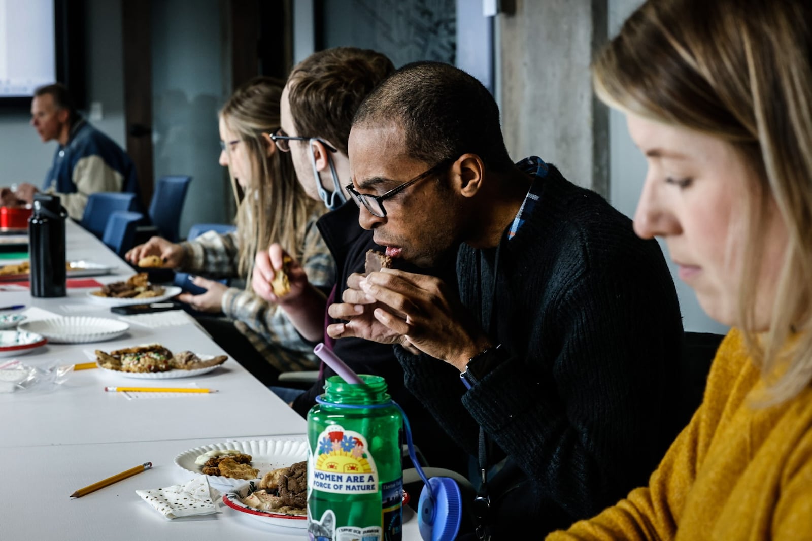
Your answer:
[[[240,144],[251,162],[251,178],[245,193],[237,203],[237,235],[240,253],[237,268],[242,276],[250,277],[257,248],[266,249],[279,242],[287,253],[304,261],[304,234],[309,219],[321,210],[304,192],[290,153],[274,152],[273,145],[263,135],[279,128],[279,101],[284,81],[271,77],[255,77],[236,89],[219,112],[231,132],[240,137]],[[227,151],[231,151],[230,148]],[[229,167],[231,187],[239,193]],[[246,280],[250,289],[251,280]]]

